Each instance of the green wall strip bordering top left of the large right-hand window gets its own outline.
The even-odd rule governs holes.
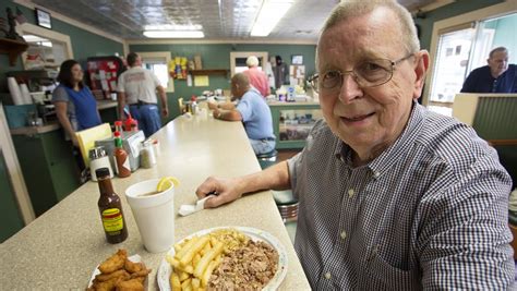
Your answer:
[[[434,22],[454,17],[485,7],[491,7],[501,2],[504,2],[504,0],[456,0],[448,5],[426,12],[424,19],[417,19],[414,21],[421,27],[420,45],[422,49],[431,50],[431,36],[433,34]]]

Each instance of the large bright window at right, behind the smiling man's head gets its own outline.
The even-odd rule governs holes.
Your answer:
[[[473,69],[486,64],[490,50],[504,46],[517,51],[515,0],[474,10],[433,25],[431,63],[422,104],[452,108]],[[515,62],[510,53],[509,62]],[[450,111],[450,110],[449,110]]]

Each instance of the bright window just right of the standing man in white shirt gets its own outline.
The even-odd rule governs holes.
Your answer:
[[[175,92],[175,83],[169,75],[170,52],[137,52],[142,58],[142,66],[155,73],[166,92]]]

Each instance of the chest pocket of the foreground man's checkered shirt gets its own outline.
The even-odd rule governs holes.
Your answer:
[[[377,290],[419,290],[411,270],[402,270],[387,263],[376,245],[370,250],[368,258],[369,280]]]

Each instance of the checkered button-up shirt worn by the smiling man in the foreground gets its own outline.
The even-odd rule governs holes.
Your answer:
[[[354,168],[320,121],[288,165],[313,289],[510,288],[510,178],[467,125],[414,104],[399,138]]]

